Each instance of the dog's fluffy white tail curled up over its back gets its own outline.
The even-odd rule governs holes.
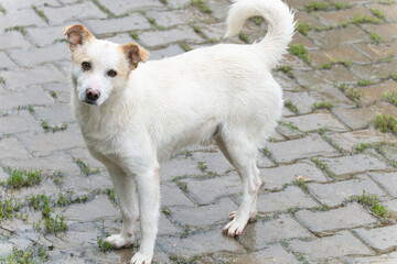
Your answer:
[[[265,61],[272,68],[286,53],[296,26],[293,13],[281,0],[237,0],[228,11],[225,37],[237,34],[247,19],[257,15],[269,26],[265,38],[254,46],[258,47],[259,54],[265,53]]]

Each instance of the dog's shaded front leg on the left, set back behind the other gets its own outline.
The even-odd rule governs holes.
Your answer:
[[[129,246],[133,243],[135,223],[139,216],[135,178],[116,165],[107,165],[107,168],[120,206],[122,228],[119,234],[110,235],[106,241],[115,248]]]

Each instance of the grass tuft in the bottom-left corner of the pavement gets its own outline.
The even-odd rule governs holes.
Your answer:
[[[37,264],[45,263],[50,260],[49,250],[43,245],[34,245],[33,250],[12,249],[7,256],[0,256],[0,263],[8,264]]]

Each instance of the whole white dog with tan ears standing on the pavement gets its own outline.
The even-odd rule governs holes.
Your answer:
[[[280,0],[240,0],[227,16],[226,36],[254,15],[269,24],[257,44],[219,44],[162,61],[135,43],[96,40],[75,24],[65,34],[72,51],[72,103],[92,155],[107,167],[122,216],[114,246],[132,243],[139,195],[141,245],[131,263],[151,263],[158,232],[160,162],[192,144],[215,142],[237,169],[243,199],[224,231],[242,234],[256,215],[258,147],[282,111],[282,90],[270,70],[291,41],[294,22]],[[139,64],[146,63],[146,64]]]

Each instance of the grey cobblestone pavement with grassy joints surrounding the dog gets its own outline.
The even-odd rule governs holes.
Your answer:
[[[259,216],[223,235],[239,178],[215,146],[185,150],[162,164],[158,263],[397,263],[397,4],[286,1],[299,23],[275,70],[286,108],[258,161]],[[0,0],[0,255],[125,263],[137,251],[103,242],[121,217],[69,111],[65,25],[159,59],[221,42],[228,4]],[[265,30],[253,19],[229,42]]]

